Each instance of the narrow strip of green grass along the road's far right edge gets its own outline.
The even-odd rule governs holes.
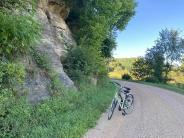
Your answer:
[[[151,83],[151,82],[144,82],[144,81],[133,81],[133,82],[171,90],[171,91],[174,91],[174,92],[177,92],[177,93],[184,95],[184,86],[178,86],[175,84]]]

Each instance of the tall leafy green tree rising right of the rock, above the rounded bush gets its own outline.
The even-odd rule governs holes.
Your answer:
[[[96,59],[105,60],[111,57],[112,50],[116,47],[114,32],[125,29],[128,21],[135,14],[135,1],[71,1],[71,12],[66,21],[74,34],[78,46],[87,49],[87,51],[92,50]],[[87,63],[87,65],[98,64],[97,60],[93,62],[93,64]],[[100,70],[104,71],[104,69],[97,69],[98,73],[100,73]],[[91,70],[91,72],[96,71]]]

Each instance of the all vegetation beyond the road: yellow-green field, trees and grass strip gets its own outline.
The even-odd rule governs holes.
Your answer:
[[[155,46],[146,51],[145,57],[111,61],[109,77],[129,80],[127,76],[130,75],[131,79],[141,83],[183,93],[183,56],[184,39],[177,30],[164,29],[160,32]]]

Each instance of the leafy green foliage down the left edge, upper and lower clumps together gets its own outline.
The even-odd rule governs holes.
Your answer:
[[[0,91],[24,81],[25,68],[17,58],[29,53],[40,35],[40,25],[30,15],[13,12],[23,3],[27,2],[0,2]]]

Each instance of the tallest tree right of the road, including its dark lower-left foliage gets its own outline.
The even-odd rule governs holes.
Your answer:
[[[175,62],[180,62],[184,53],[184,40],[177,30],[164,29],[159,33],[155,46],[148,49],[145,59],[152,68],[152,77],[159,82],[168,79]]]

